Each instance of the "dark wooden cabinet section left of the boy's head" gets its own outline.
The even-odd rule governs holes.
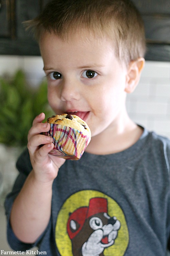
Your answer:
[[[35,18],[48,0],[0,0],[0,55],[39,55],[23,22]]]

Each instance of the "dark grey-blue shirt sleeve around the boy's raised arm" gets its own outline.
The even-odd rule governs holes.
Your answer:
[[[10,224],[10,215],[11,215],[11,209],[13,202],[15,198],[17,197],[18,193],[20,192],[24,182],[27,179],[28,174],[32,170],[31,161],[29,157],[28,150],[25,150],[21,156],[18,158],[16,167],[19,171],[19,175],[14,183],[13,189],[11,193],[9,193],[5,199],[5,214],[7,217],[7,241],[11,248],[14,251],[26,251],[31,249],[34,246],[37,246],[39,241],[41,240],[42,236],[39,237],[39,239],[34,244],[26,244],[18,240],[18,238],[15,236],[11,224]]]

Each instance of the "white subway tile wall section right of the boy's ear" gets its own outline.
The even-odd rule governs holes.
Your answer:
[[[170,62],[146,61],[126,106],[134,122],[170,138]]]

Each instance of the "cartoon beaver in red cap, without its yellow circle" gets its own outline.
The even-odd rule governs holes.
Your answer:
[[[104,256],[118,236],[120,221],[109,216],[106,198],[91,198],[88,207],[70,213],[67,233],[72,243],[73,256]]]

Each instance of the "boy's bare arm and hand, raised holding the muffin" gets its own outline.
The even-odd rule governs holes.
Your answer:
[[[28,135],[28,150],[33,170],[16,197],[10,222],[16,237],[24,243],[34,243],[46,229],[51,215],[53,180],[65,159],[49,155],[52,138],[40,134],[50,129],[41,123],[44,113],[37,116]],[[44,144],[44,146],[41,146]]]

